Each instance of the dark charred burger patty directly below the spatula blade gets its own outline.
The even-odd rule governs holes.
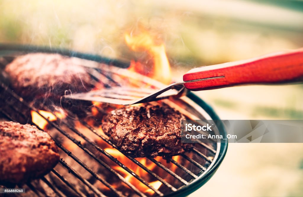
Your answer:
[[[125,106],[102,119],[103,132],[133,157],[172,156],[189,149],[181,143],[184,115],[168,105]]]

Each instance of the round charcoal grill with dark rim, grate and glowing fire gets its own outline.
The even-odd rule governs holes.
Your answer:
[[[129,71],[123,69],[127,68],[129,64],[118,60],[62,49],[33,46],[0,45],[0,71],[2,72],[5,66],[16,56],[30,52],[59,53],[98,62],[100,63],[98,68],[91,67],[87,70],[94,81],[100,83],[100,78],[106,79],[105,83],[101,82],[105,88],[112,84],[123,85],[120,79],[125,80],[127,77],[140,79],[140,83],[145,85],[153,84],[156,86],[154,88],[162,85],[137,73],[129,75]],[[111,65],[110,68],[108,65]],[[212,177],[225,156],[228,143],[225,139],[222,139],[220,143],[195,143],[190,151],[181,154],[178,159],[172,157],[161,160],[161,158],[148,157],[146,162],[143,163],[141,158],[135,159],[123,155],[104,134],[98,132],[98,125],[90,125],[85,121],[83,110],[89,114],[92,110],[91,104],[83,107],[83,103],[73,103],[73,106],[68,106],[67,109],[74,115],[77,115],[77,113],[72,110],[73,108],[83,109],[82,115],[77,116],[79,117],[77,121],[81,123],[85,131],[75,126],[73,122],[75,118],[60,119],[57,116],[57,121],[52,122],[43,116],[39,110],[52,112],[55,115],[56,107],[54,105],[40,105],[37,109],[35,105],[25,102],[20,95],[15,94],[4,76],[5,74],[1,76],[2,80],[0,81],[0,103],[2,103],[0,105],[0,117],[2,117],[2,120],[8,119],[22,124],[35,125],[31,120],[30,113],[28,113],[35,111],[48,122],[48,132],[52,137],[54,137],[53,133],[56,133],[56,135],[66,138],[69,142],[69,144],[66,144],[54,137],[57,146],[61,149],[60,156],[62,159],[60,159],[58,165],[41,179],[33,180],[24,185],[15,185],[16,188],[26,188],[32,195],[47,196],[49,193],[53,193],[57,196],[186,196],[200,188]],[[150,83],[151,81],[152,83]],[[163,102],[191,119],[219,119],[213,109],[192,92],[189,92],[187,97],[177,100],[167,99]],[[98,108],[97,110],[102,111]],[[224,127],[222,125],[217,126],[218,135],[226,135]],[[94,135],[95,140],[89,137],[91,135]],[[82,142],[79,141],[78,137],[81,137],[84,142],[83,140]],[[115,149],[126,159],[117,158],[116,155],[107,152],[108,149],[105,149],[96,140],[98,142],[102,141],[102,143]],[[84,155],[77,155],[78,151],[74,151],[75,147]],[[85,159],[82,159],[81,156]],[[131,165],[125,164],[126,162],[131,162]],[[154,166],[153,169],[148,167],[151,164]],[[80,166],[80,168],[76,166]],[[117,170],[118,168],[123,169],[126,174],[122,174],[121,170]],[[140,168],[145,174],[141,175],[137,170],[132,170],[133,168]],[[129,176],[144,187],[129,181]],[[115,182],[112,182],[112,179],[115,179]],[[161,182],[161,185],[156,187],[152,184],[155,181]],[[123,185],[123,187],[118,185]],[[7,187],[7,185],[2,187]]]

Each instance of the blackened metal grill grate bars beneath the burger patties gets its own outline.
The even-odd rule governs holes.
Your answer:
[[[5,62],[5,61],[2,61],[2,62]],[[103,72],[103,71],[101,71],[99,69],[95,69],[95,71],[98,71],[98,73],[100,73],[101,75],[103,75],[106,78],[108,78],[115,85],[119,84],[108,73],[105,74],[105,72]],[[95,80],[98,81],[98,77],[96,77],[94,73],[92,73],[91,75],[92,75],[93,79],[95,79]],[[10,101],[4,100],[4,98],[0,98],[1,102],[5,102],[6,103],[6,107],[10,108],[14,113],[20,115],[23,119],[28,120],[28,117],[26,117],[19,110],[19,108],[16,107],[16,106],[21,106],[21,105],[24,106],[25,108],[29,109],[29,110],[37,112],[43,119],[45,119],[48,122],[48,124],[52,128],[55,128],[58,132],[60,132],[62,135],[64,135],[66,138],[68,138],[70,141],[72,141],[75,145],[77,145],[80,149],[82,149],[87,155],[89,155],[92,159],[94,159],[96,162],[98,162],[100,165],[102,165],[113,176],[115,176],[117,179],[119,179],[121,182],[123,182],[125,185],[127,185],[134,193],[136,193],[139,196],[147,196],[144,193],[144,191],[141,191],[139,188],[136,187],[136,185],[133,185],[131,182],[129,182],[128,180],[126,180],[125,177],[123,177],[122,175],[120,175],[115,169],[113,169],[110,165],[108,165],[105,161],[103,161],[100,157],[98,157],[98,155],[96,155],[95,153],[91,152],[79,140],[75,139],[72,135],[70,135],[69,132],[66,132],[62,128],[62,126],[57,125],[56,122],[49,121],[46,117],[44,117],[41,113],[39,113],[38,109],[36,109],[32,105],[29,105],[27,102],[25,102],[20,96],[18,96],[17,94],[15,94],[15,92],[13,92],[8,87],[8,85],[5,85],[5,83],[1,83],[1,88],[2,88],[2,94],[3,95],[9,95],[9,97],[12,98]],[[42,109],[42,110],[46,110],[48,112],[52,112],[55,115],[54,111],[52,109],[50,109],[50,108],[51,107],[49,107],[49,106],[44,106],[44,109]],[[98,110],[101,110],[101,109],[98,109]],[[5,109],[0,108],[0,112],[3,115],[5,115],[8,119],[10,119],[10,120],[12,120],[14,122],[17,122],[17,120],[15,120],[11,116],[10,113],[6,112]],[[75,126],[71,125],[68,121],[66,121],[65,119],[59,119],[59,117],[57,117],[57,121],[60,122],[61,125],[65,125],[67,128],[69,128],[74,134],[76,134],[79,137],[81,137],[82,139],[84,139],[87,144],[93,146],[98,151],[98,154],[102,154],[105,157],[107,157],[108,159],[110,159],[112,162],[114,162],[115,164],[117,164],[118,166],[120,166],[122,169],[124,169],[125,171],[127,171],[135,179],[137,179],[138,181],[140,181],[141,183],[143,183],[144,185],[146,185],[149,189],[151,189],[152,191],[154,191],[155,194],[158,195],[158,196],[163,196],[163,195],[167,195],[167,194],[169,194],[171,192],[176,192],[176,191],[182,189],[183,187],[185,187],[186,185],[189,185],[195,179],[199,179],[202,176],[202,174],[205,171],[207,171],[207,169],[209,168],[209,166],[211,166],[211,164],[215,162],[215,159],[213,159],[213,158],[216,158],[217,154],[218,154],[217,151],[218,151],[219,147],[216,147],[216,144],[206,145],[204,143],[196,145],[195,147],[192,148],[191,153],[192,153],[192,155],[195,154],[194,156],[188,156],[186,154],[181,154],[182,159],[188,161],[190,164],[192,164],[192,166],[195,166],[198,169],[200,169],[200,171],[198,173],[191,172],[191,170],[189,168],[187,168],[187,166],[185,167],[184,165],[182,165],[181,163],[175,161],[174,159],[169,158],[168,161],[170,161],[171,163],[173,163],[175,166],[177,166],[179,169],[181,169],[183,172],[185,172],[187,175],[189,175],[191,177],[189,180],[188,179],[185,180],[180,175],[176,174],[176,172],[173,172],[171,169],[165,167],[165,165],[163,165],[161,162],[157,161],[156,159],[148,157],[148,159],[151,162],[155,163],[155,165],[157,165],[159,168],[161,168],[165,172],[167,172],[171,176],[170,178],[174,178],[174,179],[178,180],[178,182],[180,182],[180,184],[181,184],[181,186],[180,186],[180,184],[178,184],[178,187],[175,186],[175,185],[172,185],[171,183],[169,183],[168,181],[166,181],[167,177],[161,177],[161,176],[157,175],[155,172],[153,172],[152,170],[148,169],[148,167],[146,167],[145,165],[143,165],[142,163],[140,163],[137,159],[132,158],[131,156],[125,155],[134,164],[138,165],[141,169],[143,169],[144,171],[146,171],[149,175],[151,175],[152,177],[154,177],[156,180],[160,181],[162,183],[162,185],[164,185],[166,187],[166,189],[160,191],[160,189],[155,189],[147,180],[143,179],[140,175],[136,174],[131,169],[129,169],[128,167],[126,167],[123,164],[123,161],[119,161],[114,156],[112,156],[111,154],[109,154],[108,152],[106,152],[104,149],[102,149],[94,141],[90,140],[86,135],[84,135],[83,132],[79,131]],[[84,120],[80,119],[79,121],[81,122],[81,124],[83,126],[85,126],[89,131],[91,131],[92,133],[94,133],[94,135],[96,135],[98,138],[102,139],[103,141],[105,141],[108,145],[112,146],[113,148],[119,150],[118,147],[115,146],[110,140],[108,140],[108,138],[106,136],[101,135],[100,133],[98,133],[97,130],[94,127],[92,127],[91,125],[89,125]],[[33,122],[30,122],[30,123],[32,125],[35,125]],[[81,165],[96,180],[98,180],[103,185],[105,185],[108,189],[110,189],[116,196],[124,196],[124,194],[123,194],[122,191],[118,191],[112,184],[110,184],[109,182],[107,182],[104,178],[102,178],[102,176],[100,176],[97,172],[93,171],[90,167],[88,167],[88,165],[86,165],[84,162],[82,162],[80,159],[78,159],[71,151],[69,151],[67,148],[65,148],[62,145],[62,143],[60,143],[57,140],[55,140],[55,142],[56,142],[56,145],[63,152],[65,152],[70,158],[72,158],[75,162],[77,162],[79,165]],[[199,149],[201,149],[201,148],[202,149],[207,149],[207,152],[208,152],[209,155],[211,155],[211,157],[206,156],[205,154],[203,154],[202,152],[200,152]],[[217,150],[215,150],[215,149],[217,149]],[[194,159],[197,156],[200,157],[199,161],[196,161]],[[201,163],[203,163],[203,162],[201,162],[201,159],[205,160],[204,165],[201,165]],[[59,161],[59,163],[66,170],[68,170],[69,173],[71,173],[72,175],[74,175],[75,178],[77,178],[79,180],[79,182],[81,182],[83,185],[85,185],[86,187],[88,187],[95,195],[97,195],[97,196],[105,196],[98,188],[96,188],[92,183],[90,183],[88,180],[86,180],[84,177],[82,177],[82,175],[80,175],[75,169],[73,169],[70,165],[68,165],[65,161],[63,161],[63,159],[61,159]],[[58,179],[60,179],[66,185],[66,187],[70,188],[77,195],[79,195],[79,196],[85,196],[85,194],[83,194],[82,191],[80,191],[78,188],[75,187],[75,185],[73,185],[72,183],[70,183],[57,170],[53,169],[52,172],[50,172],[50,173],[52,175],[55,175],[56,177],[58,177]],[[60,191],[60,189],[52,181],[48,180],[46,177],[42,177],[41,180],[43,182],[45,182],[46,185],[48,185],[48,187],[51,190],[53,190],[53,192],[56,195],[58,195],[58,196],[65,196],[65,194],[62,193]],[[31,189],[38,196],[41,195],[41,194],[42,195],[46,195],[46,194],[41,193],[41,191],[39,191],[37,188],[35,188],[34,184],[32,184],[32,183],[28,183],[27,186],[28,186],[29,189]]]

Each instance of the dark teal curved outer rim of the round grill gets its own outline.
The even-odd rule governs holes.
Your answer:
[[[67,55],[71,57],[78,57],[82,59],[92,60],[99,63],[105,63],[110,64],[116,67],[120,68],[127,68],[129,66],[129,63],[121,62],[116,59],[110,59],[101,57],[99,55],[93,55],[88,53],[79,53],[67,49],[62,48],[48,48],[48,47],[39,47],[34,45],[11,45],[11,44],[1,44],[0,43],[0,51],[17,51],[17,52],[43,52],[43,53],[58,53],[61,55]],[[213,120],[220,120],[218,115],[215,113],[215,111],[211,108],[210,105],[208,105],[206,102],[204,102],[200,97],[198,97],[195,93],[189,92],[187,97],[195,102],[195,104],[199,105],[206,113],[211,117]],[[219,121],[221,122],[221,120]],[[223,126],[223,123],[221,122],[220,125],[218,125],[218,130],[221,135],[226,135],[225,128]],[[172,191],[170,194],[164,195],[164,196],[187,196],[194,192],[195,190],[199,189],[202,185],[204,185],[216,172],[218,167],[221,165],[222,160],[225,157],[226,151],[228,147],[227,140],[221,139],[221,143],[217,147],[218,157],[215,159],[215,162],[213,165],[210,165],[206,171],[201,171],[198,174],[198,178],[192,180],[189,182],[188,185],[181,186],[180,189],[177,189],[177,191]],[[217,155],[217,154],[216,154]]]

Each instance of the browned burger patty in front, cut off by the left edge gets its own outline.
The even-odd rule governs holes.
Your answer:
[[[58,148],[48,133],[29,124],[0,122],[0,185],[39,178],[58,161]]]

